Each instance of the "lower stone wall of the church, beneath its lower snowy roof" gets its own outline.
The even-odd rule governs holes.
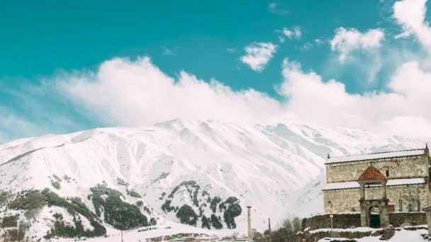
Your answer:
[[[428,204],[427,185],[386,187],[386,197],[395,212],[417,212]],[[381,187],[365,188],[365,199],[380,199]],[[323,191],[325,213],[360,212],[359,188]]]

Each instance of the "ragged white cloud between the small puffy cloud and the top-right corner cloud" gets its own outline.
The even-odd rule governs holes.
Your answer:
[[[353,50],[372,50],[379,47],[382,40],[384,31],[381,29],[361,33],[354,28],[337,28],[334,38],[330,40],[330,46],[333,51],[340,53],[340,62],[344,62]]]

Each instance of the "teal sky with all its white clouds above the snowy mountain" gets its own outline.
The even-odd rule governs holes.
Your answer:
[[[401,1],[0,1],[0,143],[175,118],[431,137]]]

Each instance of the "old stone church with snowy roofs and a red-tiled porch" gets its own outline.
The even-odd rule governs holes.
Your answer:
[[[361,226],[386,227],[391,213],[430,204],[430,152],[425,149],[329,157],[326,214],[361,214]]]

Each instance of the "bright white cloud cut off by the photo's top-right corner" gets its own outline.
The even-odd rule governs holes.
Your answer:
[[[431,47],[431,28],[425,22],[427,0],[403,0],[393,4],[393,17],[403,27],[403,33],[397,38],[416,35],[426,47]]]

